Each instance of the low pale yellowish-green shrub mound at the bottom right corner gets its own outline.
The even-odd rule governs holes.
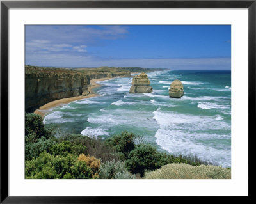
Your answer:
[[[146,171],[146,179],[230,179],[231,171],[220,166],[167,164],[155,171]]]

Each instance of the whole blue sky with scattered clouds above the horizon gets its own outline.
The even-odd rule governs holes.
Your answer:
[[[231,26],[26,26],[26,65],[230,70]]]

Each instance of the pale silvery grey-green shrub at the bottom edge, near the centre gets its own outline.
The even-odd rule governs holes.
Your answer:
[[[99,176],[102,179],[134,179],[132,175],[125,169],[124,162],[121,161],[105,161],[100,165]]]

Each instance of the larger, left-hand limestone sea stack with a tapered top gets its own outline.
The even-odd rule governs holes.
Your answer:
[[[139,75],[136,75],[132,79],[132,86],[129,93],[151,93],[153,91],[148,75],[142,72]]]

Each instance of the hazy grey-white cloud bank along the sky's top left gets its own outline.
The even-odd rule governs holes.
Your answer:
[[[99,43],[99,39],[123,38],[127,35],[125,26],[26,26],[26,42],[40,39],[53,43],[86,43],[92,45]],[[36,38],[36,39],[35,39]]]

